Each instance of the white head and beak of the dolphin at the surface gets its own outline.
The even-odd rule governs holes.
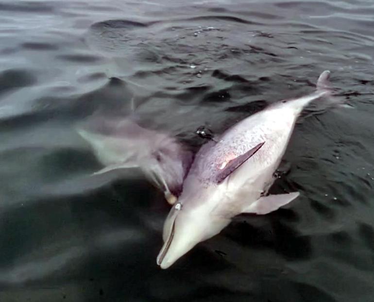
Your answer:
[[[229,222],[230,219],[212,215],[204,206],[192,208],[176,203],[165,220],[164,245],[157,264],[169,268],[196,244],[220,233]]]

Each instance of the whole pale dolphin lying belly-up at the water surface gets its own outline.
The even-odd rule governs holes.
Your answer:
[[[314,93],[272,104],[202,146],[165,221],[164,245],[157,256],[161,268],[220,233],[234,216],[267,214],[299,196],[267,192],[303,108],[322,97],[337,100],[327,85],[329,75],[323,71]]]

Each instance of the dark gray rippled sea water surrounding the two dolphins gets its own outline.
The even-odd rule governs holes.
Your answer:
[[[374,3],[1,1],[0,301],[374,301]],[[168,270],[168,205],[136,170],[102,168],[75,132],[128,114],[196,150],[318,75],[353,109],[309,110],[272,190]]]

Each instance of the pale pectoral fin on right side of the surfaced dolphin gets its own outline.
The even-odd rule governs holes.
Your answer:
[[[264,196],[251,203],[249,206],[244,207],[242,213],[252,213],[257,215],[268,214],[293,201],[299,195],[299,192],[292,192],[288,194]]]

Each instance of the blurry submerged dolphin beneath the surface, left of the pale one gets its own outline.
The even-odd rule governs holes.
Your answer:
[[[192,154],[168,134],[140,127],[129,117],[96,117],[94,130],[77,132],[91,145],[105,166],[101,174],[123,168],[140,168],[173,204],[182,191]],[[93,125],[93,126],[92,126]]]

